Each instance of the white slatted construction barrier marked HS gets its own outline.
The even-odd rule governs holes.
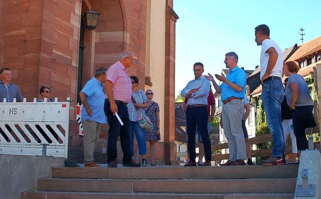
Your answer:
[[[0,153],[68,156],[70,98],[66,102],[0,102]]]

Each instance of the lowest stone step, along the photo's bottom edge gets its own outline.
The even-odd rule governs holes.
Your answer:
[[[72,191],[24,191],[22,199],[292,199],[294,193],[120,193],[120,192],[72,192]]]

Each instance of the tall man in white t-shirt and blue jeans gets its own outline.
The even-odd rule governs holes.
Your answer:
[[[281,123],[281,102],[284,91],[282,85],[283,54],[278,45],[270,40],[270,29],[266,25],[255,28],[255,42],[262,46],[261,50],[261,83],[262,102],[266,114],[267,125],[273,138],[271,156],[262,160],[263,165],[285,164],[285,142]]]

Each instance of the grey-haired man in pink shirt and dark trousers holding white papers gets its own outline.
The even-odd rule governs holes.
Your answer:
[[[127,75],[129,68],[134,61],[133,55],[129,51],[124,51],[119,55],[118,62],[111,65],[106,72],[105,84],[105,104],[104,112],[109,125],[107,157],[108,167],[117,167],[117,138],[120,136],[120,145],[123,152],[122,165],[127,167],[139,167],[140,164],[132,160],[130,152],[129,138],[129,115],[127,103],[131,99],[131,81]],[[121,121],[120,125],[115,114],[118,113]]]

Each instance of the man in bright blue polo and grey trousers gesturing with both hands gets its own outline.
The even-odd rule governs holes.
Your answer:
[[[238,56],[234,52],[225,55],[224,63],[226,68],[230,69],[229,74],[215,75],[216,79],[222,82],[219,86],[212,75],[205,76],[206,79],[212,81],[217,93],[221,93],[222,119],[225,137],[229,146],[230,159],[221,166],[229,165],[245,165],[246,149],[245,140],[242,130],[242,115],[246,88],[246,74],[244,70],[237,66]]]

